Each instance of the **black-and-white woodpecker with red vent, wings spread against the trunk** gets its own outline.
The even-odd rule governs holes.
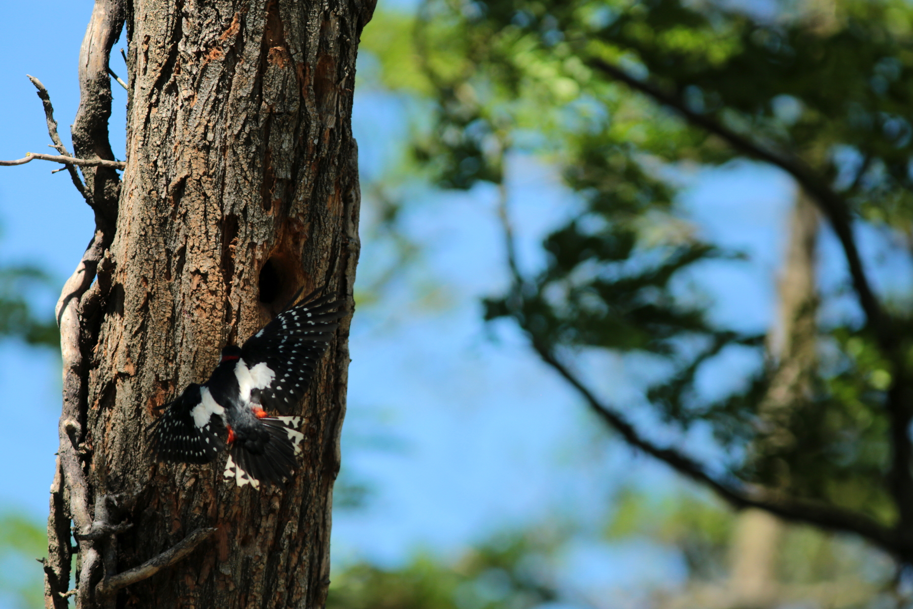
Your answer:
[[[289,305],[240,346],[226,346],[203,384],[191,383],[152,424],[162,461],[211,463],[226,447],[225,478],[238,487],[291,478],[304,434],[289,416],[345,311],[320,289]],[[278,411],[268,415],[265,408]]]

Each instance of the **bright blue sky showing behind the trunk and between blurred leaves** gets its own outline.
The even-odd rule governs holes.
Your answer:
[[[0,5],[6,24],[0,39],[0,57],[6,58],[0,62],[5,117],[0,158],[47,150],[44,115],[26,73],[47,86],[68,142],[79,100],[79,44],[90,10],[88,1]],[[29,25],[39,19],[42,39],[53,44],[36,43]],[[112,67],[123,69],[121,59],[112,58]],[[117,153],[124,147],[126,94],[115,85],[114,95],[110,124]],[[356,90],[353,126],[362,169],[370,177],[393,168],[390,159],[406,134],[406,114],[396,96]],[[0,262],[37,264],[62,282],[79,261],[92,219],[67,174],[51,175],[53,168],[39,162],[0,168]],[[508,175],[521,262],[536,268],[537,243],[568,215],[572,194],[553,169],[534,158],[511,157]],[[750,255],[744,263],[704,269],[702,285],[721,302],[713,314],[760,331],[773,311],[792,183],[751,163],[688,173],[684,179],[681,201],[699,230]],[[383,291],[383,299],[358,311],[352,325],[343,467],[373,493],[366,509],[334,516],[334,559],[394,564],[416,548],[456,555],[495,530],[550,520],[572,518],[584,528],[595,527],[615,489],[668,488],[673,477],[666,468],[604,433],[577,396],[531,354],[519,332],[508,323],[482,323],[479,299],[497,294],[507,282],[493,189],[408,192],[399,226],[420,256]],[[367,229],[370,197],[364,205]],[[864,233],[864,249],[874,257],[883,240],[874,231]],[[383,269],[368,261],[387,259],[390,251],[370,231],[363,235],[366,262],[359,280],[370,282]],[[822,251],[824,281],[833,288],[844,278],[842,257],[829,236]],[[905,264],[888,259],[878,277],[883,284],[901,272],[909,277]],[[56,296],[36,299],[51,307]],[[845,302],[841,314],[854,306]],[[606,399],[632,400],[640,375],[633,362],[588,354],[580,365]],[[711,371],[706,383],[723,383],[750,365],[733,356]],[[6,424],[0,507],[43,519],[57,449],[57,356],[0,343],[0,386]],[[650,424],[637,412],[629,415]],[[712,453],[699,434],[686,443],[696,454]],[[683,575],[675,557],[642,545],[606,548],[582,541],[575,552],[569,564],[585,562],[584,571],[598,573],[606,585]]]

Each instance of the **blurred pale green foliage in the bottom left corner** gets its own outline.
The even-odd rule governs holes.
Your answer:
[[[35,559],[45,554],[43,527],[22,514],[0,512],[0,599],[21,609],[43,607],[44,573]]]

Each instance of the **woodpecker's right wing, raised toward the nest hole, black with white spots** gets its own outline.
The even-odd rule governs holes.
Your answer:
[[[345,311],[335,295],[317,292],[279,313],[241,346],[238,366],[241,399],[288,414],[299,403],[314,376],[320,356]],[[240,362],[239,362],[240,363]]]

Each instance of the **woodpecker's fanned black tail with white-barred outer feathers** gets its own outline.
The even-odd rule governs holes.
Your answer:
[[[239,487],[249,484],[260,488],[261,482],[281,484],[290,479],[301,452],[304,434],[298,431],[299,416],[267,416],[259,419],[266,435],[257,442],[237,439],[231,442],[225,477]]]

